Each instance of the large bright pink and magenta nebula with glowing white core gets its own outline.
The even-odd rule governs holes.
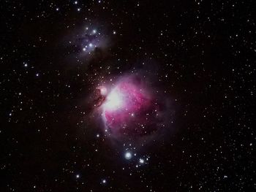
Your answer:
[[[106,92],[106,88],[102,90]],[[140,136],[157,127],[159,104],[141,80],[129,77],[116,83],[101,107],[105,127],[114,135]]]

